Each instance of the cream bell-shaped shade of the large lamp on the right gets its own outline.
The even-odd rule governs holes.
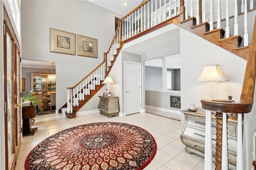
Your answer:
[[[227,81],[227,79],[220,71],[220,65],[207,65],[203,67],[203,71],[196,81],[220,82]]]

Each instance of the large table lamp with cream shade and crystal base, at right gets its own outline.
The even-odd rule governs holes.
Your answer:
[[[204,66],[201,75],[196,81],[203,81],[205,83],[205,91],[210,99],[216,97],[218,92],[218,82],[227,81],[226,77],[220,71],[220,65]]]

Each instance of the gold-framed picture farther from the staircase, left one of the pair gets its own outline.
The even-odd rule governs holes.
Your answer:
[[[76,34],[50,28],[50,52],[76,55]]]

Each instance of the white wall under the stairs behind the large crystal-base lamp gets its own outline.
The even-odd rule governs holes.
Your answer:
[[[244,59],[183,29],[180,30],[180,55],[182,110],[189,108],[192,103],[202,108],[200,100],[208,98],[204,93],[204,83],[196,79],[202,67],[210,62],[219,64],[229,80],[218,83],[216,98],[227,99],[228,95],[232,95],[234,101],[239,101],[246,67]]]

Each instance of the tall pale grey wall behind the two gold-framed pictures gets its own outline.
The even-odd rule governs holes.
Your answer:
[[[22,59],[56,62],[56,108],[74,86],[103,61],[115,32],[115,16],[88,1],[22,0]],[[98,39],[98,58],[50,52],[50,28]],[[97,98],[97,96],[94,96]],[[90,107],[97,109],[98,103]]]

